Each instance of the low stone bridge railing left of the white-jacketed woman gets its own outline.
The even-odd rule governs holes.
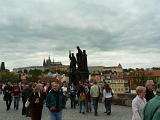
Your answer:
[[[118,93],[117,98],[113,101],[115,105],[131,106],[132,100],[136,94],[131,93]]]

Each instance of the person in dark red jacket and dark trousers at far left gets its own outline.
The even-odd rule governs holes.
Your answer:
[[[20,87],[18,83],[14,83],[12,93],[14,99],[14,109],[18,110],[20,100]]]

